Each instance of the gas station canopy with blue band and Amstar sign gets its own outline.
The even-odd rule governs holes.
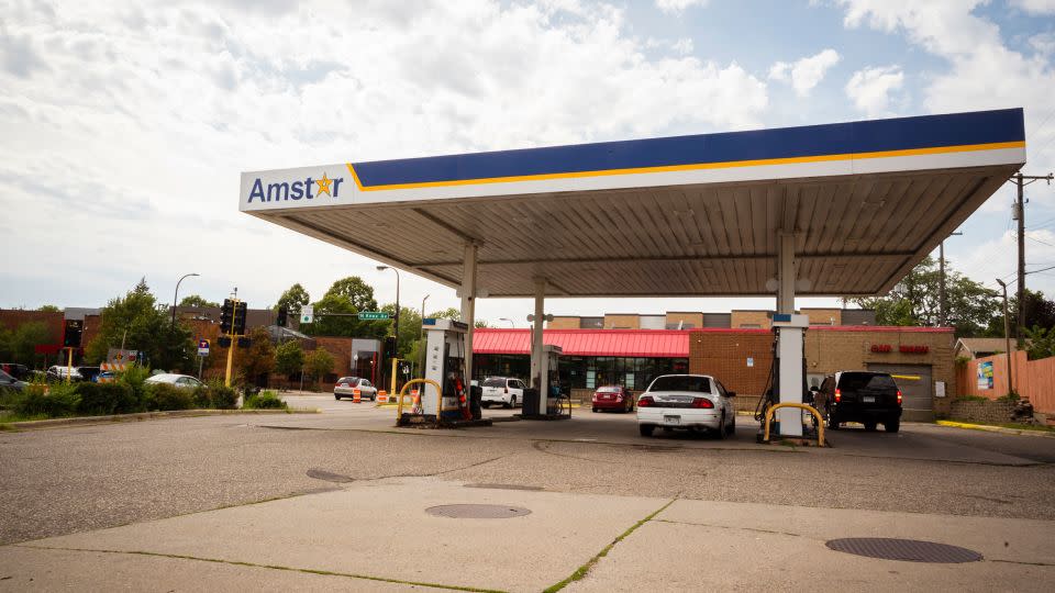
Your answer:
[[[478,294],[888,291],[1025,163],[1021,109],[242,174],[240,209]]]

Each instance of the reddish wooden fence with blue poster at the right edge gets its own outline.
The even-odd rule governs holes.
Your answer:
[[[1011,356],[1011,380],[1019,395],[1028,398],[1033,409],[1045,414],[1055,414],[1055,357],[1029,360],[1025,353]],[[992,389],[979,388],[978,368],[992,363]],[[980,395],[996,400],[1008,393],[1008,355],[987,356],[968,360],[956,368],[958,395]]]

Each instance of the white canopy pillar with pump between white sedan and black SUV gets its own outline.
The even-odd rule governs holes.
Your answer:
[[[780,403],[802,403],[802,333],[808,321],[795,314],[795,234],[780,233],[777,254],[777,392]],[[787,325],[785,325],[787,324]],[[797,407],[777,410],[781,436],[802,436],[802,411]]]

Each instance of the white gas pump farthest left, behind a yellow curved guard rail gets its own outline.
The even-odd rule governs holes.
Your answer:
[[[465,377],[465,334],[468,325],[454,320],[422,320],[425,332],[425,372],[421,396],[425,416],[446,421],[468,419],[469,382]],[[443,387],[443,399],[436,393]],[[440,406],[440,410],[436,406]]]

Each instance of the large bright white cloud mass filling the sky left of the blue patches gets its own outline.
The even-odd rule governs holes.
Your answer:
[[[364,258],[238,213],[238,174],[751,128],[768,104],[735,63],[649,57],[603,3],[237,4],[5,11],[0,137],[16,142],[0,143],[0,251],[34,256],[4,261],[18,291],[0,306],[32,305],[25,287],[66,270],[71,236],[85,279],[64,271],[77,288],[41,302],[99,304],[144,273],[170,292],[187,271],[192,290],[238,286],[254,306],[349,273],[390,294]]]

